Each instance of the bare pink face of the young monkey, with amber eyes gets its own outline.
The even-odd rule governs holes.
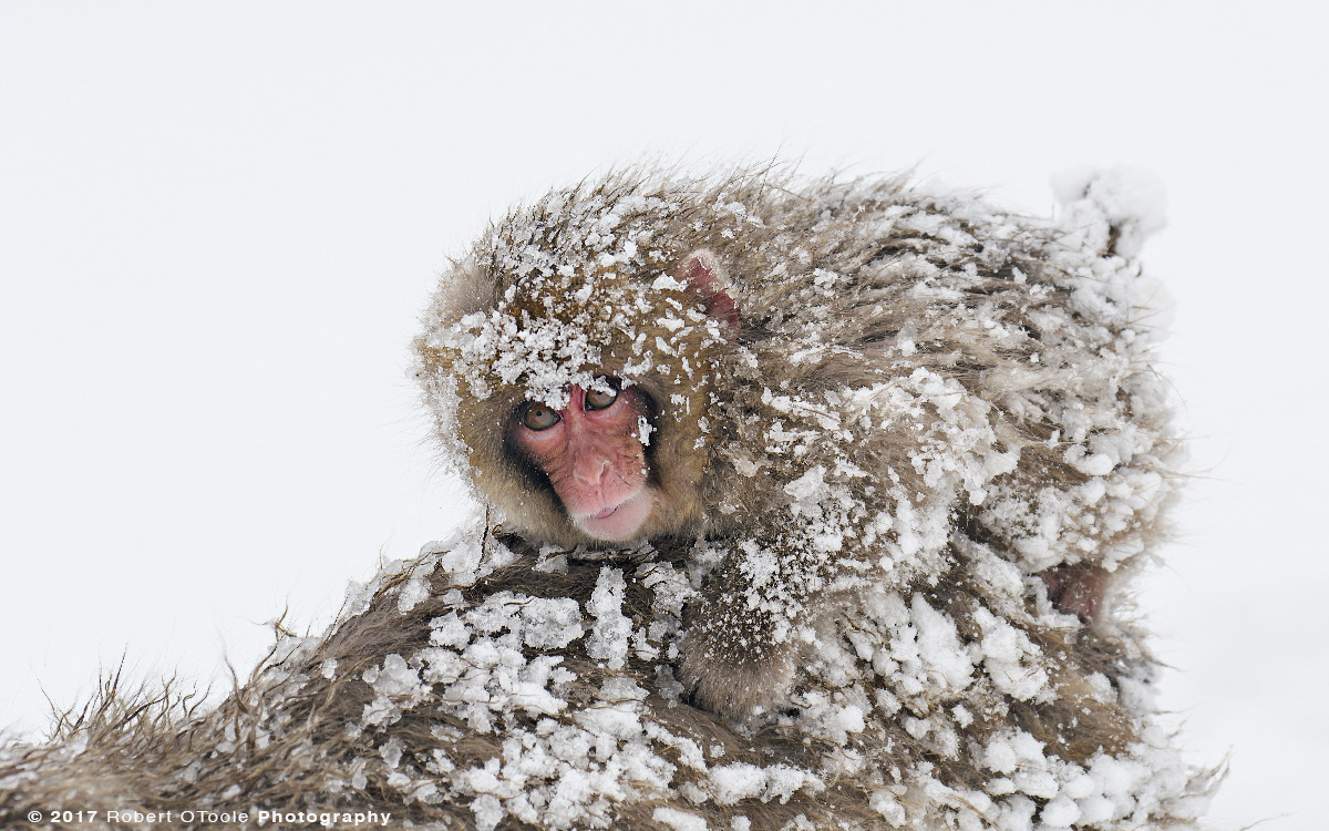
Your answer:
[[[571,387],[562,410],[530,403],[517,412],[514,439],[554,485],[567,516],[606,542],[639,536],[655,508],[638,437],[641,394]]]

